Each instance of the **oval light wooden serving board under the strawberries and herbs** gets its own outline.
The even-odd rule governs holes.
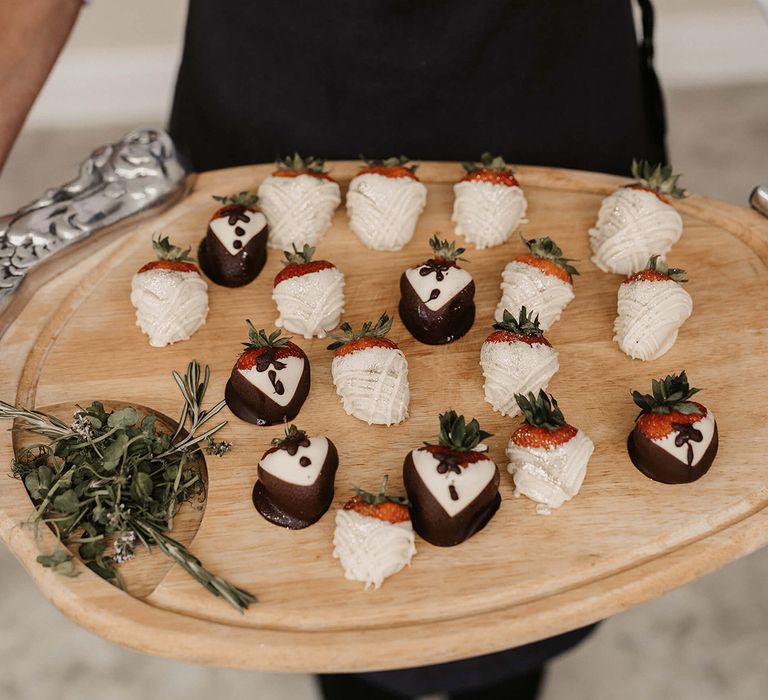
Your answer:
[[[357,164],[331,164],[346,185]],[[252,284],[210,284],[210,315],[194,337],[151,348],[134,325],[131,276],[152,257],[150,237],[163,232],[196,247],[215,203],[212,194],[255,190],[271,171],[261,165],[206,173],[192,194],[108,248],[47,282],[0,339],[0,396],[65,414],[92,399],[130,402],[175,416],[180,399],[171,370],[192,358],[213,371],[210,399],[224,384],[245,339],[245,319],[271,328],[280,255]],[[452,184],[458,164],[424,163],[427,208],[404,250],[366,249],[339,209],[318,246],[346,275],[345,319],[357,326],[387,310],[396,316],[398,281],[429,257],[427,240],[453,238]],[[66,615],[111,640],[151,653],[225,666],[277,671],[349,671],[414,666],[497,651],[584,625],[653,598],[768,542],[768,223],[750,211],[693,196],[676,203],[685,221],[670,263],[689,271],[694,312],[675,347],[654,362],[630,360],[612,342],[620,278],[589,261],[587,229],[601,199],[624,180],[593,173],[521,167],[529,201],[526,237],[549,235],[578,258],[576,298],[548,338],[560,352],[550,390],[569,422],[596,451],[581,493],[549,516],[513,497],[504,447],[519,419],[494,414],[483,401],[480,345],[489,333],[504,265],[522,252],[515,236],[485,251],[470,247],[467,269],[477,285],[477,320],[460,341],[429,347],[396,318],[391,337],[410,366],[410,418],[390,428],[347,416],[331,381],[327,340],[298,339],[312,365],[312,389],[296,423],[326,434],[341,464],[333,509],[316,525],[283,530],[251,504],[256,465],[280,427],[258,428],[228,416],[234,443],[208,459],[202,518],[187,515],[182,535],[217,574],[259,597],[239,615],[178,567],[132,562],[124,593],[82,568],[75,579],[35,563],[38,546],[19,523],[32,507],[18,481],[0,479],[0,536],[45,594]],[[636,408],[631,388],[687,369],[715,413],[720,453],[712,470],[685,486],[654,483],[630,463],[625,440]],[[409,569],[378,591],[344,579],[331,557],[334,510],[353,484],[375,489],[384,473],[401,491],[405,454],[435,438],[437,415],[454,408],[476,416],[494,436],[502,470],[502,505],[480,534],[454,548],[417,539]],[[0,434],[0,463],[10,463],[10,433]],[[195,533],[195,527],[197,531]],[[162,561],[161,555],[152,557]]]

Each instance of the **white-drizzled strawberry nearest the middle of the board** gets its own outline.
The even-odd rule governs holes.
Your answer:
[[[408,361],[397,344],[386,337],[392,328],[387,314],[367,321],[357,333],[342,323],[343,335],[331,337],[331,373],[344,410],[369,425],[392,425],[408,417]]]

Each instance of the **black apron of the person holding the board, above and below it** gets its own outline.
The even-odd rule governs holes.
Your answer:
[[[491,151],[629,174],[633,158],[666,162],[653,13],[638,4],[639,42],[631,0],[191,0],[171,133],[199,171],[293,151]],[[525,673],[591,629],[363,677],[409,695],[467,689]]]

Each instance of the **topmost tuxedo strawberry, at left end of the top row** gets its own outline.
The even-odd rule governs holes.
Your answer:
[[[222,204],[200,242],[200,267],[216,284],[242,287],[258,276],[267,261],[267,220],[257,197],[240,192],[214,197]]]

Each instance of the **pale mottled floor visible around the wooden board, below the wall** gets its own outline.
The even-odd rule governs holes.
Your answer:
[[[675,90],[668,106],[672,161],[690,190],[744,204],[768,181],[768,85]],[[0,211],[70,177],[91,145],[128,128],[24,134],[0,178]],[[768,549],[617,615],[551,664],[542,700],[762,700],[766,580]],[[4,548],[0,591],[0,700],[317,697],[309,676],[193,666],[94,637],[47,603]]]

